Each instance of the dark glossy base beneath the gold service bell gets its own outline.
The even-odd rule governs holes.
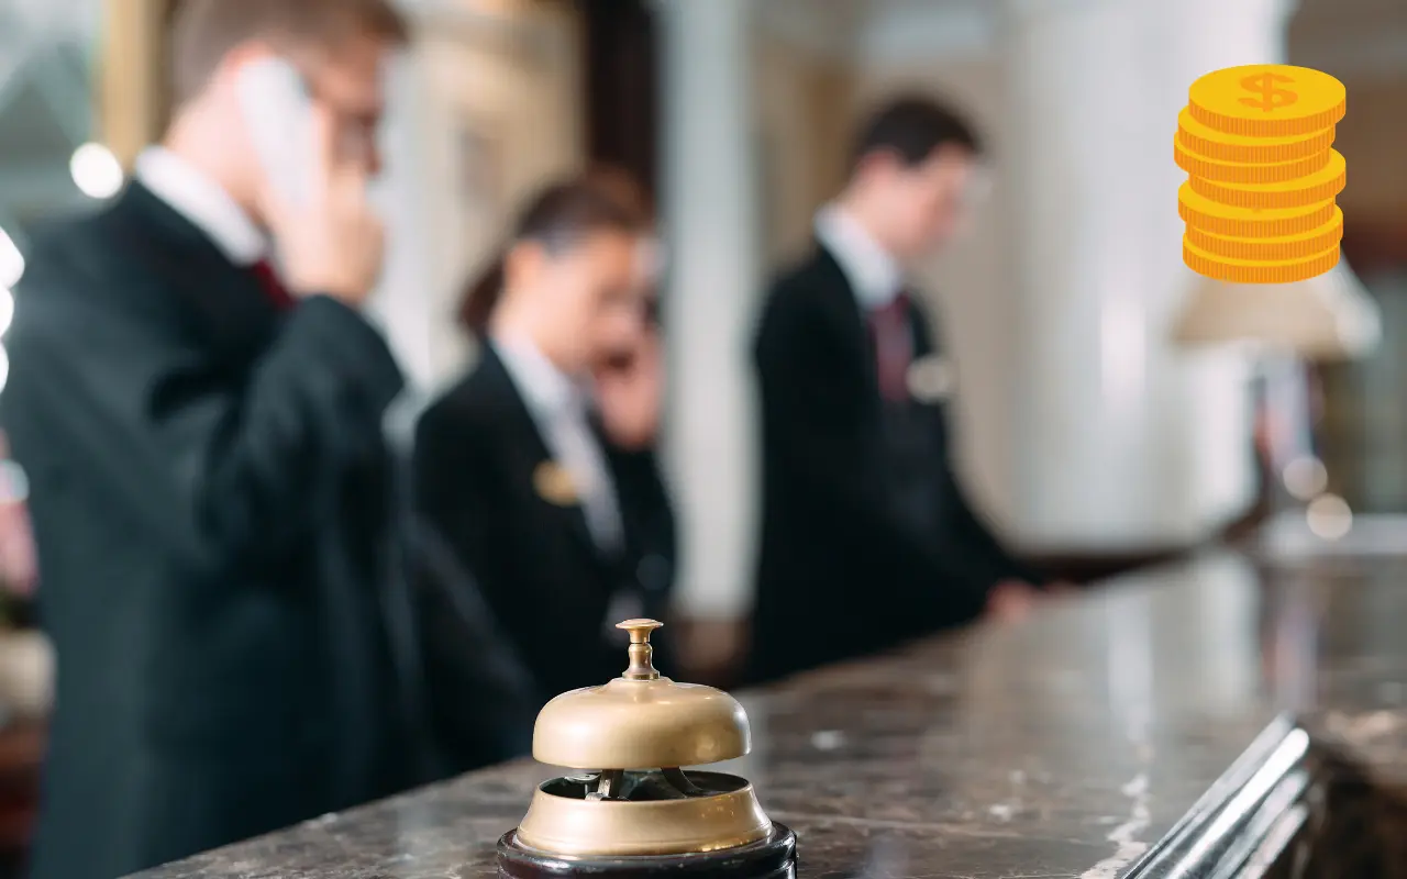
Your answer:
[[[782,824],[757,842],[701,855],[637,855],[620,858],[559,858],[518,844],[518,831],[498,840],[498,875],[508,879],[653,879],[656,876],[739,876],[795,879],[796,834]]]

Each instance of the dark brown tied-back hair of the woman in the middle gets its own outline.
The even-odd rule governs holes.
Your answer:
[[[649,200],[632,177],[615,169],[563,180],[537,193],[514,224],[512,243],[535,242],[549,252],[575,246],[595,232],[644,235],[651,226]],[[460,298],[459,321],[484,338],[504,290],[507,249]]]

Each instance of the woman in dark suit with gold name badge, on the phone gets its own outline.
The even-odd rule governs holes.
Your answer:
[[[667,609],[674,529],[649,449],[651,402],[644,418],[619,405],[632,385],[657,392],[629,377],[656,368],[647,233],[611,186],[545,191],[466,302],[478,363],[416,432],[421,506],[480,579],[543,698],[619,676],[613,624]]]

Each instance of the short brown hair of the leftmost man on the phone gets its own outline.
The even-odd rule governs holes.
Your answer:
[[[225,55],[250,39],[336,46],[370,35],[401,45],[409,25],[391,0],[176,0],[170,89],[177,105],[210,83]]]

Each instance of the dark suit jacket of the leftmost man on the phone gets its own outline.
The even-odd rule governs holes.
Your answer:
[[[381,336],[139,184],[35,239],[0,418],[58,650],[34,875],[107,878],[388,793]]]

